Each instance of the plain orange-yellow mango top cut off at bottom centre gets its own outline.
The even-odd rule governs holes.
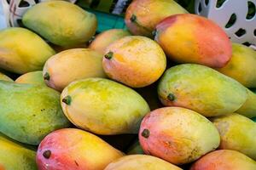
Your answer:
[[[108,164],[104,170],[182,170],[158,157],[147,155],[123,156]]]

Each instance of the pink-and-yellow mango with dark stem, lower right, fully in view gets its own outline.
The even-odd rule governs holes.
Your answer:
[[[163,107],[143,118],[139,141],[146,154],[182,165],[217,149],[220,138],[212,122],[199,113]]]

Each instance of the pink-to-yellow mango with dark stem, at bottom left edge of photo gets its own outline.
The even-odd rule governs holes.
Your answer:
[[[49,158],[44,152],[50,151]],[[122,152],[92,133],[64,128],[49,133],[38,147],[37,164],[40,170],[100,170],[124,156]]]

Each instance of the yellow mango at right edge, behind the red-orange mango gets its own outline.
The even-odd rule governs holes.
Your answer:
[[[236,79],[247,88],[256,88],[256,51],[240,43],[232,44],[230,62],[217,71]]]

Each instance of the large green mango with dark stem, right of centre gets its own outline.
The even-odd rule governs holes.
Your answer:
[[[234,113],[247,100],[247,88],[239,82],[195,64],[168,69],[160,80],[158,94],[163,105],[185,107],[203,116]]]

